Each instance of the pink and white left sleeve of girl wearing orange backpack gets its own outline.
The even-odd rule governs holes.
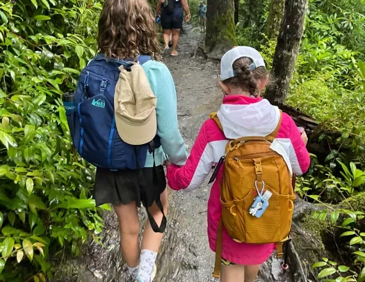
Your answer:
[[[174,190],[193,191],[202,185],[214,163],[213,150],[206,139],[206,123],[200,129],[190,156],[182,167],[168,166],[168,185]]]

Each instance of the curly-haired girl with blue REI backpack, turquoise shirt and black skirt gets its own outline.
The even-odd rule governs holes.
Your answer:
[[[94,158],[96,166],[97,156],[104,150],[102,141],[106,140],[105,164],[97,166],[94,198],[97,205],[113,204],[124,260],[131,279],[137,282],[150,282],[156,275],[155,261],[168,207],[163,170],[165,155],[179,166],[184,165],[187,157],[177,127],[175,84],[168,68],[161,63],[154,20],[146,0],[105,1],[97,36],[100,54],[81,72],[75,93],[80,115],[75,113],[78,118],[74,121],[75,133],[72,134],[76,149],[82,152],[80,155],[88,152],[85,158]],[[130,70],[127,71],[128,64]],[[117,97],[125,94],[121,91],[147,87],[146,84],[131,84],[130,88],[124,84],[120,86],[118,79],[122,75],[127,79],[135,79],[137,75],[147,77],[153,95],[140,97],[139,104],[136,97],[133,105],[133,95],[130,101]],[[78,93],[82,91],[87,93],[86,98],[79,98]],[[103,114],[113,102],[115,109],[110,109],[115,111],[115,116],[109,117],[112,120],[110,130]],[[87,109],[86,103],[89,103]],[[140,111],[139,116],[135,110]],[[90,117],[92,123],[88,124]],[[147,118],[146,123],[137,123],[143,118]],[[80,134],[77,133],[79,127]],[[98,128],[106,128],[106,131],[100,134]],[[146,144],[139,146],[145,134],[151,133],[152,139],[147,136]],[[92,139],[95,146],[90,145]],[[134,146],[136,144],[138,146]],[[100,162],[104,162],[103,159]],[[140,244],[138,207],[141,203],[147,209],[148,220]]]

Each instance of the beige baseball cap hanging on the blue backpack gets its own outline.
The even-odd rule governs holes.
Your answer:
[[[115,124],[120,138],[131,145],[149,143],[157,132],[156,96],[142,66],[135,63],[131,71],[120,66],[115,86]]]

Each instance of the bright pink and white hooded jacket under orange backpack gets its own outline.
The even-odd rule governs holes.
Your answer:
[[[279,122],[279,109],[262,98],[229,95],[218,111],[224,134],[213,120],[206,120],[182,167],[168,167],[168,185],[175,190],[193,191],[200,187],[214,164],[225,154],[228,139],[244,136],[267,136]],[[284,157],[289,170],[301,175],[309,168],[310,160],[305,143],[294,121],[283,113],[282,124],[271,148]],[[216,250],[217,228],[222,212],[218,181],[222,179],[222,168],[213,183],[208,201],[208,236],[212,251]],[[275,249],[274,244],[238,243],[223,230],[222,258],[239,265],[264,263]]]

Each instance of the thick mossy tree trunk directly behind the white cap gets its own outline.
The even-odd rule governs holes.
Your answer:
[[[205,45],[210,58],[221,58],[236,45],[234,0],[208,0]]]

